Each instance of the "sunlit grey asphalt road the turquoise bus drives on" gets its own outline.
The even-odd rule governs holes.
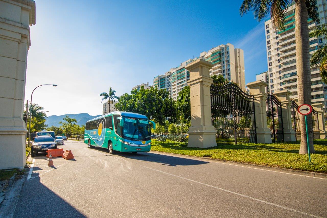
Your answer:
[[[39,155],[14,217],[327,217],[327,180],[156,153]]]

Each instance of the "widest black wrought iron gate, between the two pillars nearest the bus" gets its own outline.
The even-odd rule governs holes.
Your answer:
[[[211,121],[218,143],[257,143],[254,97],[233,83],[210,87]]]

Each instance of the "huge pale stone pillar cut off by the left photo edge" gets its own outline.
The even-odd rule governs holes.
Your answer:
[[[0,0],[0,169],[26,164],[23,108],[32,24],[34,1]]]

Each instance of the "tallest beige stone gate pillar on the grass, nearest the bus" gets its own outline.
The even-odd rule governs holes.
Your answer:
[[[189,64],[190,71],[191,126],[188,129],[188,147],[209,148],[217,145],[216,131],[211,124],[210,86],[213,79],[209,69],[213,64],[202,59]]]

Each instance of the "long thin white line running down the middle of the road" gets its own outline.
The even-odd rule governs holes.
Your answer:
[[[139,164],[137,164],[137,165],[139,165]],[[293,212],[296,212],[296,213],[301,213],[301,214],[307,215],[307,216],[322,218],[320,216],[316,216],[316,215],[311,214],[311,213],[305,213],[305,212],[302,212],[302,211],[299,211],[299,210],[296,210],[296,209],[287,208],[287,207],[284,207],[284,206],[281,206],[281,205],[278,205],[278,204],[274,204],[274,203],[271,203],[271,202],[268,202],[268,201],[263,201],[263,200],[260,200],[258,198],[254,198],[254,197],[251,197],[251,196],[248,196],[248,195],[244,195],[244,194],[237,193],[237,192],[234,192],[234,191],[229,191],[227,189],[222,189],[222,188],[219,188],[219,187],[216,187],[216,186],[212,186],[212,185],[209,185],[209,184],[206,184],[206,183],[203,183],[203,182],[198,182],[198,181],[195,181],[195,180],[192,180],[192,179],[188,179],[188,178],[184,178],[184,177],[181,177],[181,176],[178,176],[178,175],[174,175],[174,174],[171,174],[171,173],[166,173],[166,172],[163,172],[163,171],[160,171],[160,170],[156,170],[156,169],[153,169],[153,168],[150,168],[150,167],[145,167],[145,166],[142,166],[142,165],[139,165],[139,166],[144,167],[144,168],[147,168],[147,169],[150,169],[150,170],[154,170],[154,171],[157,171],[157,172],[160,172],[160,173],[165,173],[167,175],[175,176],[175,177],[178,177],[178,178],[181,178],[181,179],[185,179],[185,180],[188,180],[188,181],[191,181],[191,182],[195,182],[195,183],[198,183],[198,184],[201,184],[201,185],[204,185],[204,186],[208,186],[208,187],[211,187],[211,188],[214,188],[214,189],[218,189],[218,190],[226,191],[226,192],[229,192],[229,193],[232,193],[232,194],[235,194],[235,195],[239,195],[239,196],[242,196],[242,197],[250,198],[252,200],[259,201],[259,202],[262,202],[262,203],[265,203],[265,204],[268,204],[268,205],[271,205],[271,206],[283,208],[283,209],[290,210],[290,211],[293,211]]]

